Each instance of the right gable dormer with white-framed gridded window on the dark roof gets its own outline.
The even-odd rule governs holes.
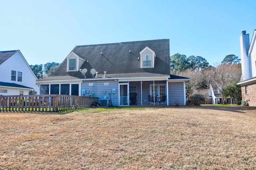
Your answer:
[[[156,53],[146,46],[140,51],[140,68],[154,68]]]

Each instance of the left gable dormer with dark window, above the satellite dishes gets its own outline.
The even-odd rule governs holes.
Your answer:
[[[67,71],[78,71],[82,66],[85,59],[79,57],[73,51],[66,57],[67,59]]]

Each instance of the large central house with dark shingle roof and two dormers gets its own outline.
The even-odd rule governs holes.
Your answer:
[[[148,95],[185,105],[189,81],[170,75],[168,39],[76,46],[52,76],[37,80],[41,95],[94,96],[105,106],[149,105]]]

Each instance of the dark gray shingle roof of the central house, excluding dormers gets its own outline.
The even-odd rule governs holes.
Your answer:
[[[140,68],[140,52],[149,47],[156,53],[154,68]],[[130,51],[130,52],[129,52]],[[94,68],[98,74],[106,71],[107,77],[122,76],[144,77],[156,75],[170,75],[170,40],[148,40],[138,42],[121,42],[98,45],[79,45],[72,52],[86,61],[80,67],[86,68],[86,78],[91,78],[90,69]],[[101,54],[102,52],[102,54]],[[88,62],[87,62],[88,60]],[[80,71],[66,71],[67,59],[59,65],[51,78],[40,80],[60,79],[83,79]],[[100,77],[100,76],[99,76]],[[63,77],[62,77],[63,78]]]

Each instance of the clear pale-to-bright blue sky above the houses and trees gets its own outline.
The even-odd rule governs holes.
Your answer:
[[[170,39],[170,55],[240,58],[255,0],[0,0],[0,51],[29,65],[61,63],[76,45]]]

